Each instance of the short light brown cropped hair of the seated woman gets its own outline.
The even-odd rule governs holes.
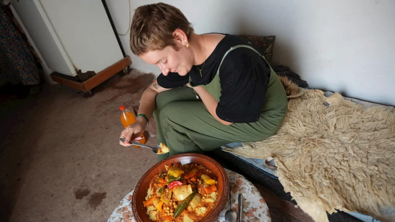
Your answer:
[[[176,49],[173,32],[177,28],[184,31],[188,39],[194,31],[180,9],[164,3],[140,6],[130,27],[130,49],[137,56],[168,45]]]

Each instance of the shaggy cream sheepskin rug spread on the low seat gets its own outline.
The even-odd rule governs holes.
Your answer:
[[[364,109],[339,93],[325,97],[281,80],[291,99],[277,134],[224,150],[274,158],[284,190],[316,222],[337,210],[395,221],[382,214],[395,208],[395,109]]]

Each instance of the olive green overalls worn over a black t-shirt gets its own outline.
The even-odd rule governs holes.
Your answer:
[[[219,70],[222,62],[229,52],[239,47],[246,47],[258,53],[248,45],[231,47],[225,53],[214,79],[209,84],[203,85],[217,101],[220,100],[221,95]],[[266,61],[264,56],[260,56]],[[191,83],[191,79],[189,81]],[[280,128],[287,111],[287,96],[273,69],[271,69],[265,105],[256,122],[233,123],[230,126],[220,123],[189,87],[178,87],[161,92],[156,96],[154,118],[158,143],[166,144],[170,147],[170,152],[158,155],[158,160],[179,153],[211,151],[231,142],[266,139]]]

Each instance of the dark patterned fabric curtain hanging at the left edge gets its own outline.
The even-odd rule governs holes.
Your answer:
[[[12,14],[12,13],[11,13]],[[37,85],[40,73],[28,43],[17,30],[9,6],[0,7],[0,75],[12,85]]]

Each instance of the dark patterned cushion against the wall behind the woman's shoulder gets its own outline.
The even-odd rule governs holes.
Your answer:
[[[276,36],[248,36],[248,35],[236,35],[246,41],[251,45],[257,47],[261,50],[265,56],[267,62],[271,62],[273,57],[273,45],[276,40]]]

